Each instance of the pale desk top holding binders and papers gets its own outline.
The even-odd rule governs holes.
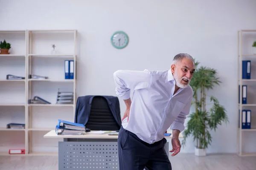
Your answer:
[[[92,131],[93,132],[93,131]],[[170,133],[170,132],[168,132]],[[179,137],[183,137],[180,133]],[[55,130],[49,131],[44,135],[44,138],[84,138],[84,139],[117,139],[118,135],[108,135],[108,134],[93,134],[93,133],[85,133],[84,135],[57,135]],[[165,138],[172,138],[171,136],[165,136]]]

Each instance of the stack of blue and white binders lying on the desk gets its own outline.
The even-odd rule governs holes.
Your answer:
[[[79,123],[68,122],[58,119],[58,124],[55,127],[57,135],[83,135],[85,126]]]

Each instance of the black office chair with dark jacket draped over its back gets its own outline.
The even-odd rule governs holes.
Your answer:
[[[116,96],[79,96],[76,104],[75,123],[89,130],[119,130],[121,116]]]

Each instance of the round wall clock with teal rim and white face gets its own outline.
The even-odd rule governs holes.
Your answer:
[[[117,49],[125,48],[128,45],[128,35],[123,31],[116,31],[111,36],[111,43]]]

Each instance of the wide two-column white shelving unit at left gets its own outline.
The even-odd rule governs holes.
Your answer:
[[[3,30],[0,40],[11,43],[10,54],[0,55],[0,155],[25,149],[25,155],[58,155],[59,139],[45,139],[58,119],[74,121],[76,111],[76,30]],[[55,44],[55,54],[52,54]],[[65,79],[64,60],[74,60],[74,79]],[[25,77],[6,80],[7,74]],[[48,79],[29,79],[29,74]],[[56,104],[57,92],[74,93],[73,104]],[[39,96],[51,104],[28,104]],[[25,129],[6,129],[25,123]]]

